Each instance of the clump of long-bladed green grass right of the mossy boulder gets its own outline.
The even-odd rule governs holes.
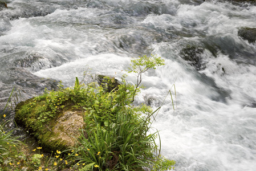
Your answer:
[[[136,170],[150,167],[156,149],[155,133],[148,134],[149,118],[135,115],[132,108],[116,113],[111,124],[82,130],[79,146],[71,156],[78,162],[95,163],[99,170]],[[125,112],[125,113],[123,113]],[[87,132],[87,136],[84,136]]]

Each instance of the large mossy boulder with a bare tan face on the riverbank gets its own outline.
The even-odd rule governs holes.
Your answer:
[[[75,145],[75,137],[79,136],[79,129],[84,127],[82,111],[62,111],[52,117],[45,124],[38,124],[37,115],[27,111],[27,105],[34,102],[33,108],[38,109],[42,101],[34,101],[34,98],[22,101],[15,108],[15,121],[22,125],[29,133],[35,136],[40,146],[46,152],[66,150]],[[40,125],[40,126],[38,126]]]

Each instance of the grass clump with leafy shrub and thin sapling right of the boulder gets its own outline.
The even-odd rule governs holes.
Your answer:
[[[135,86],[123,79],[111,92],[105,92],[103,87],[89,91],[93,92],[90,99],[96,99],[92,100],[92,110],[85,108],[87,113],[91,112],[86,116],[86,128],[80,133],[78,146],[72,148],[70,157],[75,157],[75,162],[94,163],[94,170],[157,170],[160,166],[168,169],[174,165],[157,157],[158,132],[150,133],[151,116],[155,112],[147,105],[131,105],[139,92],[141,74],[162,64],[163,60],[156,56],[134,59],[129,72],[138,74]]]

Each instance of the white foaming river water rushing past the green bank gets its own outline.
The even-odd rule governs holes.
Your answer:
[[[157,54],[166,64],[143,75],[146,88],[136,103],[151,100],[157,108],[172,92],[175,111],[168,96],[153,124],[160,131],[162,154],[177,162],[177,171],[255,170],[256,44],[238,36],[240,27],[256,27],[254,5],[6,2],[8,9],[0,6],[1,108],[14,86],[21,101],[55,88],[59,80],[73,86],[75,76],[82,79],[88,68],[92,75],[120,79],[131,58]],[[185,60],[188,54],[200,64]],[[136,83],[135,76],[128,75],[128,81]]]

